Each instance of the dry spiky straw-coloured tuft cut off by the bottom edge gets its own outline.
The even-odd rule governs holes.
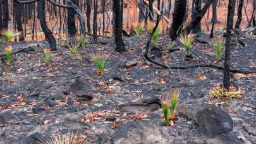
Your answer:
[[[42,144],[85,144],[85,138],[84,135],[72,132],[64,136],[54,136],[51,140],[42,142]]]

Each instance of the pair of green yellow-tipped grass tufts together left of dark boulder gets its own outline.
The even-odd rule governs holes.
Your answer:
[[[172,93],[162,95],[162,112],[164,114],[164,123],[169,125],[169,120],[176,119],[176,107],[180,96],[180,89],[174,89]]]

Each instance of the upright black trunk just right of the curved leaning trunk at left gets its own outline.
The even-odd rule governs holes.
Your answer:
[[[76,0],[70,0],[72,3],[76,4]],[[68,8],[68,36],[76,36],[76,23],[75,23],[75,10]]]

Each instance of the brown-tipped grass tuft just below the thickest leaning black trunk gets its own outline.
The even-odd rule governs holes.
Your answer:
[[[190,56],[190,47],[192,46],[192,39],[186,34],[186,32],[180,33],[179,40],[186,51],[186,56]]]

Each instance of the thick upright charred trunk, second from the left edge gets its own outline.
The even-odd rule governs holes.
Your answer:
[[[19,41],[24,40],[23,27],[22,27],[22,8],[23,6],[16,1],[13,1],[13,15],[15,17],[16,30],[20,33]]]

